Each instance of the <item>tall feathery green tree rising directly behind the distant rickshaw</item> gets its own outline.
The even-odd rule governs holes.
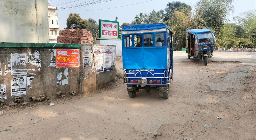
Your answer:
[[[203,18],[204,26],[211,27],[215,34],[220,34],[230,11],[234,11],[234,0],[199,0],[196,3],[196,15]]]

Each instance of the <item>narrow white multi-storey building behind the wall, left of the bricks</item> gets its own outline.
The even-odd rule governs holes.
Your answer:
[[[58,14],[55,13],[56,11],[55,6],[51,6],[48,3],[48,19],[49,19],[49,43],[57,43],[57,37],[59,35],[59,21],[58,21]]]

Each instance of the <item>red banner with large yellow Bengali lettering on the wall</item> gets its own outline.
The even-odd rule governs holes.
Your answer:
[[[79,67],[79,50],[56,49],[56,67]]]

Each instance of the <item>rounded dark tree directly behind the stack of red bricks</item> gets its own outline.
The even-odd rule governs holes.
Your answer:
[[[66,29],[76,29],[76,30],[81,30],[81,29],[86,29],[88,26],[88,21],[86,19],[82,19],[79,14],[72,14],[70,13],[67,18],[67,28]]]

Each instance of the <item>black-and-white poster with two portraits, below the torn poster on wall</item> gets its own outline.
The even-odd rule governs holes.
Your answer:
[[[11,96],[19,96],[19,95],[26,95],[26,83],[27,78],[26,75],[17,75],[13,76],[11,81]]]

